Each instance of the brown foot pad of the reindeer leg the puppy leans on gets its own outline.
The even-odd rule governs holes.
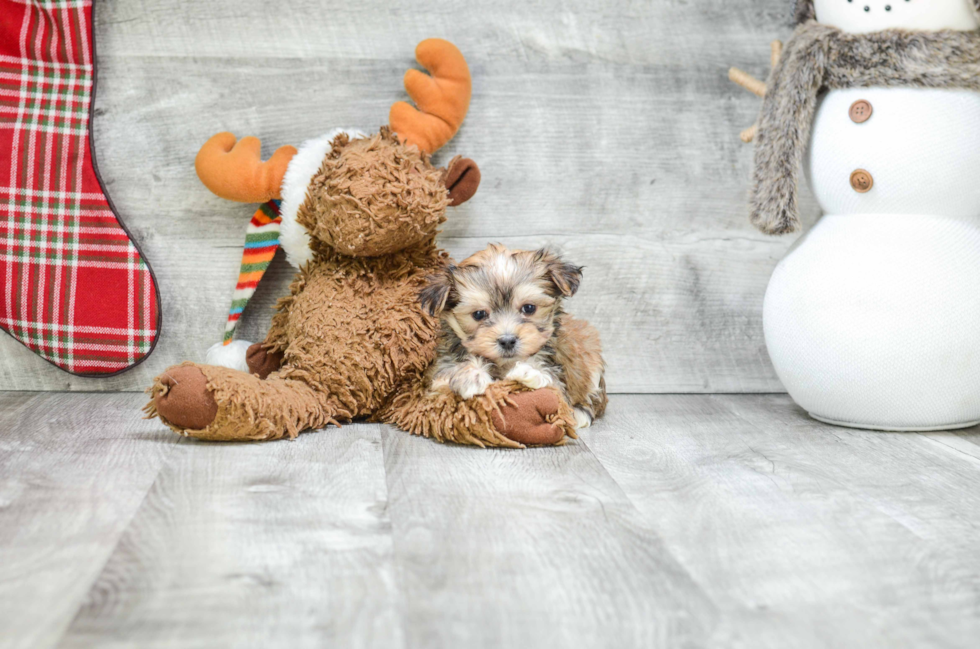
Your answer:
[[[554,390],[511,394],[499,412],[492,414],[501,435],[527,446],[558,444],[566,428],[559,416],[561,398]]]

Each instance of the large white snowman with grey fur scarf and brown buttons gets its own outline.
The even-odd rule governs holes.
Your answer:
[[[815,419],[879,430],[980,423],[980,0],[799,0],[773,45],[752,220],[799,228],[776,267],[766,345]]]

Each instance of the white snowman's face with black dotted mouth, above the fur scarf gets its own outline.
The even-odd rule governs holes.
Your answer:
[[[813,0],[817,21],[845,32],[977,29],[972,0]]]

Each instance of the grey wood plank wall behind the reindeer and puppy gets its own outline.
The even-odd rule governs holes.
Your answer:
[[[415,44],[455,41],[469,117],[437,161],[481,166],[442,243],[563,247],[586,266],[573,313],[606,343],[612,392],[780,391],[762,338],[768,276],[792,239],[748,224],[759,100],[727,80],[768,71],[786,0],[100,0],[95,137],[112,198],[160,281],[151,358],[85,380],[0,336],[0,389],[139,390],[220,338],[251,208],[210,196],[193,159],[212,133],[270,154],[338,125],[372,130],[403,98]],[[810,220],[815,207],[807,199]],[[278,259],[242,334],[255,340],[292,271]]]

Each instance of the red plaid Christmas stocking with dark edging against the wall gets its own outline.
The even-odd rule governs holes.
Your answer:
[[[0,0],[0,327],[80,375],[152,351],[152,272],[102,188],[89,131],[91,0]]]

